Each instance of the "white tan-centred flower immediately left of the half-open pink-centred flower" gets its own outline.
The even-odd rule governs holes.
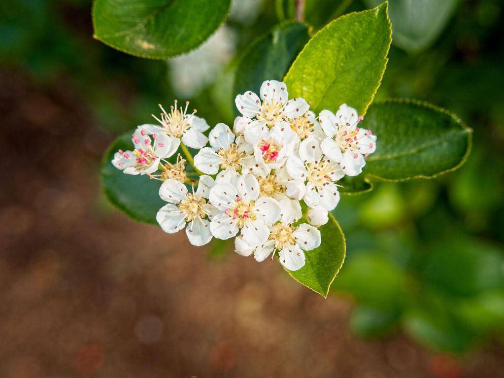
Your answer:
[[[249,149],[244,141],[240,144],[233,143],[235,136],[224,123],[218,123],[209,135],[211,147],[204,147],[194,157],[194,164],[203,173],[216,174],[217,182],[230,182],[235,184],[238,172],[247,161],[254,163],[254,157],[246,154]]]

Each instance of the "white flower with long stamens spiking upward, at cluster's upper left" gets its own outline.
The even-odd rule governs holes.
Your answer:
[[[182,108],[182,106],[177,108],[177,100],[175,100],[168,113],[159,104],[162,110],[161,119],[154,114],[152,116],[161,123],[161,126],[144,124],[141,128],[150,134],[164,133],[173,138],[181,137],[184,145],[191,148],[202,148],[208,142],[208,138],[203,135],[203,132],[207,131],[210,126],[205,119],[195,115],[196,109],[193,110],[193,113],[187,114],[188,105],[189,101],[186,101],[185,108]]]

